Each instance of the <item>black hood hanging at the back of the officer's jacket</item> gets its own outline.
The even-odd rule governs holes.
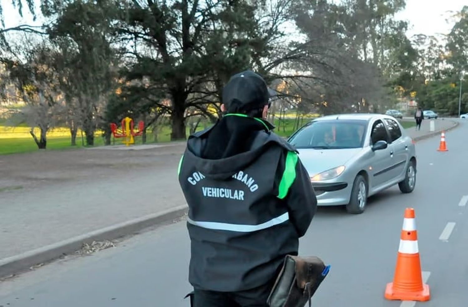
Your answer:
[[[296,151],[271,132],[272,128],[268,121],[243,114],[226,114],[211,128],[189,137],[185,157],[190,158],[204,176],[227,179],[271,146]]]

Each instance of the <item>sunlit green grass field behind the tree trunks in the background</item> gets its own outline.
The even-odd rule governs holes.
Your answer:
[[[305,124],[307,121],[310,121],[310,118],[305,118],[302,124]],[[291,136],[294,132],[294,122],[293,118],[286,118],[285,125],[283,121],[276,119],[273,124],[276,129],[274,130],[279,136],[288,137]],[[416,126],[414,121],[401,121],[404,128],[411,128]],[[202,122],[197,130],[205,129],[210,125],[209,122]],[[285,127],[283,127],[285,126]],[[36,132],[39,131],[36,129]],[[187,136],[189,135],[189,129],[187,128]],[[155,143],[154,135],[148,131],[146,135],[146,143]],[[158,143],[165,143],[170,141],[170,127],[164,125],[161,127],[157,135]],[[51,129],[47,134],[47,150],[67,150],[73,148],[82,147],[82,139],[80,131],[76,137],[76,146],[70,145],[70,133],[66,128]],[[113,144],[121,144],[120,139],[115,139],[112,137],[111,142]],[[135,138],[135,144],[141,144],[141,136]],[[95,135],[95,146],[103,146],[104,138],[101,136],[101,133],[98,132]],[[0,123],[0,155],[4,154],[13,154],[13,153],[22,153],[22,152],[32,152],[37,151],[37,145],[34,142],[33,138],[29,135],[28,127],[5,127],[1,126]]]

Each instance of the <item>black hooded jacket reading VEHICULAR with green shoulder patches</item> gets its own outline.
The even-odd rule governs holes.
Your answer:
[[[204,290],[261,286],[297,255],[317,200],[295,149],[267,121],[228,114],[189,137],[179,182],[189,205],[189,281]]]

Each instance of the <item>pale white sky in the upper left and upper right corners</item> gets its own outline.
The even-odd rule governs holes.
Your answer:
[[[11,0],[0,1],[3,7],[6,28],[22,23],[41,25],[43,21],[41,16],[38,16],[36,22],[32,21],[32,16],[28,13],[27,7],[23,7],[24,18],[21,18],[17,10],[11,5]],[[40,0],[35,2],[36,11],[39,11]],[[453,18],[450,18],[450,16],[453,15],[453,12],[460,11],[463,5],[468,5],[468,0],[406,0],[405,10],[398,13],[396,18],[409,21],[408,37],[415,34],[448,34],[454,24]]]

